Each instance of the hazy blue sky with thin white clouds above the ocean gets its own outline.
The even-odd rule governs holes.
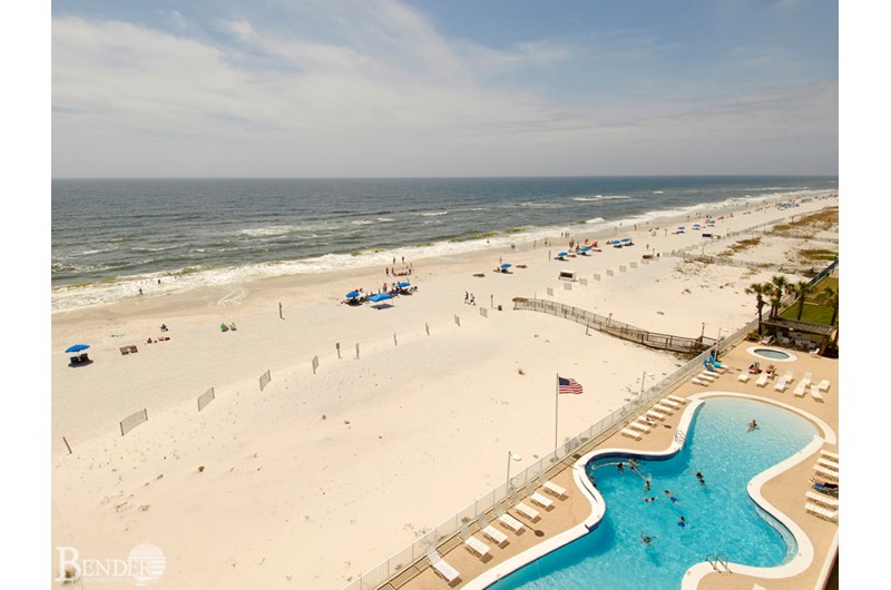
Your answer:
[[[835,1],[57,0],[52,177],[839,171]]]

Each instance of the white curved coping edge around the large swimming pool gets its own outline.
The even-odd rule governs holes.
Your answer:
[[[684,410],[684,413],[678,421],[676,433],[682,432],[686,434],[687,430],[689,429],[691,423],[693,422],[694,416],[696,415],[696,411],[705,404],[705,400],[708,397],[741,397],[741,399],[748,399],[754,400],[763,403],[770,403],[772,405],[784,407],[791,412],[794,412],[809,421],[813,422],[817,429],[823,431],[823,436],[814,436],[814,439],[801,451],[792,455],[791,458],[773,465],[772,468],[763,471],[762,473],[755,475],[752,481],[748,483],[748,494],[752,500],[761,507],[763,510],[768,512],[773,518],[780,521],[786,529],[789,529],[790,533],[795,538],[795,542],[799,545],[799,552],[790,560],[787,563],[782,566],[775,566],[772,568],[756,568],[752,566],[743,566],[742,563],[733,563],[728,562],[728,567],[732,566],[732,571],[734,573],[742,573],[758,578],[767,578],[767,579],[783,579],[790,578],[802,571],[805,571],[814,559],[814,550],[813,543],[811,542],[807,534],[804,530],[795,523],[790,517],[784,514],[782,511],[773,507],[761,493],[761,489],[768,480],[773,479],[777,474],[791,469],[792,466],[799,464],[800,462],[804,461],[813,453],[815,453],[820,446],[823,445],[824,442],[830,444],[835,444],[836,435],[832,427],[826,424],[823,420],[814,416],[810,412],[805,412],[801,409],[791,406],[783,402],[770,399],[770,397],[762,397],[758,395],[750,395],[745,393],[737,393],[737,392],[699,392],[692,394],[687,397],[689,402],[687,407]],[[512,558],[506,560],[502,563],[493,567],[491,570],[488,570],[480,576],[473,578],[467,584],[464,584],[464,589],[467,590],[484,590],[489,586],[500,581],[505,577],[513,573],[515,571],[519,570],[523,566],[528,566],[529,563],[533,562],[535,560],[547,555],[548,553],[560,549],[561,547],[569,544],[570,542],[584,537],[591,529],[597,527],[597,524],[603,520],[604,513],[606,512],[606,502],[604,498],[600,495],[600,492],[591,485],[590,481],[588,480],[587,473],[585,471],[585,466],[590,462],[593,459],[598,458],[600,455],[608,455],[608,454],[634,454],[640,458],[666,458],[668,455],[675,454],[684,446],[682,442],[677,440],[677,435],[672,440],[670,444],[663,449],[662,451],[640,451],[640,450],[633,450],[628,448],[610,448],[610,449],[596,449],[594,451],[589,451],[588,453],[584,454],[572,464],[572,479],[576,482],[576,486],[579,489],[580,492],[585,494],[585,498],[588,499],[588,502],[591,504],[591,512],[588,517],[579,524],[567,529],[566,531],[551,537],[550,539],[546,539],[541,543],[538,543],[535,547],[530,547],[526,551],[513,555]],[[715,569],[707,562],[699,562],[691,568],[684,573],[684,577],[681,581],[681,590],[693,590],[698,587],[699,582],[703,578],[705,578],[709,573],[716,573]]]

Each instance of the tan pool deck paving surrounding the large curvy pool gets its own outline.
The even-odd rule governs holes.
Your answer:
[[[723,568],[721,572],[715,572],[712,566],[699,566],[696,569],[704,573],[704,576],[698,582],[692,580],[695,577],[687,576],[686,578],[691,580],[684,582],[683,587],[685,590],[691,587],[697,588],[698,590],[752,590],[755,584],[770,588],[771,590],[823,588],[838,553],[838,523],[807,513],[804,508],[806,501],[804,494],[811,490],[809,479],[815,475],[813,466],[820,458],[820,451],[825,450],[836,454],[839,453],[836,439],[839,429],[839,362],[834,358],[811,356],[806,352],[799,351],[794,352],[796,356],[794,361],[765,362],[763,358],[754,357],[747,352],[748,348],[753,346],[756,346],[756,344],[743,341],[732,350],[722,354],[721,362],[733,371],[721,375],[712,384],[697,385],[691,381],[686,381],[670,393],[666,393],[666,395],[670,394],[678,397],[692,396],[695,399],[702,394],[708,394],[709,392],[721,392],[754,396],[800,410],[803,415],[820,423],[820,426],[831,429],[831,434],[826,435],[826,442],[822,444],[822,446],[815,448],[810,456],[799,458],[799,462],[791,468],[784,469],[775,475],[768,475],[760,489],[760,493],[766,502],[772,504],[776,510],[801,528],[813,545],[813,557],[809,559],[805,554],[804,558],[797,558],[803,561],[799,561],[795,567],[791,568],[797,570],[796,573],[792,576],[784,573],[782,578],[773,577],[781,573],[777,569],[774,569],[776,570],[774,572],[771,572],[770,569],[762,570],[763,574],[761,574],[762,572],[748,574],[738,571],[733,573],[726,572]],[[781,346],[770,347],[783,350]],[[747,383],[737,380],[741,372],[747,372],[747,367],[753,361],[758,361],[762,367],[766,367],[766,365],[771,363],[776,366],[776,376],[768,381],[766,386],[762,387],[756,385],[754,376],[750,378]],[[781,393],[775,391],[774,385],[776,385],[786,370],[790,368],[794,371],[794,381],[791,382],[785,392]],[[829,391],[823,392],[822,402],[812,397],[810,393],[804,396],[794,395],[795,386],[805,373],[812,373],[811,381],[814,384],[823,380],[829,380],[830,387]],[[407,569],[402,576],[394,578],[382,588],[401,588],[407,590],[428,588],[479,588],[479,581],[476,583],[473,582],[474,578],[478,576],[484,572],[497,571],[496,569],[508,560],[515,562],[517,560],[523,560],[523,557],[519,557],[521,553],[549,539],[554,539],[557,535],[566,537],[567,534],[571,534],[567,531],[574,529],[575,531],[579,531],[579,527],[584,527],[582,522],[591,514],[591,504],[587,499],[587,492],[580,490],[574,481],[571,468],[575,461],[587,452],[598,449],[626,449],[642,452],[664,451],[672,445],[677,425],[687,407],[688,405],[685,404],[681,410],[667,416],[648,434],[643,435],[639,441],[621,435],[619,433],[621,429],[619,427],[614,434],[600,441],[598,444],[589,444],[580,448],[574,456],[570,456],[564,462],[564,468],[559,473],[551,478],[551,481],[567,490],[566,496],[556,499],[548,493],[542,493],[542,495],[554,500],[554,507],[550,510],[545,510],[535,505],[526,498],[523,501],[536,508],[540,513],[540,518],[536,522],[530,522],[527,518],[519,515],[516,509],[509,508],[508,512],[513,514],[515,518],[526,525],[525,530],[519,534],[505,528],[500,523],[493,524],[495,528],[508,537],[508,542],[503,547],[496,545],[492,540],[482,534],[479,524],[473,523],[470,528],[470,532],[473,533],[473,537],[489,545],[490,551],[487,557],[481,559],[479,555],[471,552],[468,545],[457,535],[446,541],[443,544],[440,544],[438,551],[443,560],[460,573],[460,578],[451,584],[440,577],[432,568],[428,567],[428,560],[424,559],[419,562],[415,568]],[[491,517],[493,517],[493,514],[490,515],[490,520]],[[806,553],[806,551],[804,553]],[[728,558],[730,569],[734,570],[733,555],[731,554]],[[707,569],[707,572],[705,572],[704,569]],[[678,586],[678,588],[681,588],[681,586]]]

